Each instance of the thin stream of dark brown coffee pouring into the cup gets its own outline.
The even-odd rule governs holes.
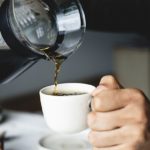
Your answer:
[[[58,75],[59,72],[61,70],[61,65],[64,62],[64,60],[66,59],[65,56],[56,53],[56,52],[51,52],[51,49],[45,49],[43,50],[45,52],[45,54],[48,56],[49,60],[53,60],[53,62],[55,63],[55,74],[54,74],[54,95],[57,95],[58,91],[57,91],[57,85],[58,85]]]

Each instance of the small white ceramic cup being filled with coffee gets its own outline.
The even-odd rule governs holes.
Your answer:
[[[41,89],[40,100],[47,125],[58,133],[76,133],[86,129],[94,89],[94,86],[82,83],[58,84],[58,93],[82,93],[69,96],[52,95],[54,85]]]

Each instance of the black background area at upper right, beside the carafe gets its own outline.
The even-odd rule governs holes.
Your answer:
[[[87,28],[150,34],[149,0],[81,0]]]

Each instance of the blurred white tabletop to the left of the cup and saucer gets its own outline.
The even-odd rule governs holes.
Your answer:
[[[40,113],[5,110],[4,116],[0,133],[6,132],[5,150],[37,150],[39,139],[51,132]]]

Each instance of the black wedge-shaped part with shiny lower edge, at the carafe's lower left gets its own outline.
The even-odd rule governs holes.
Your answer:
[[[0,84],[15,79],[36,62],[35,59],[17,55],[13,50],[0,50]]]

